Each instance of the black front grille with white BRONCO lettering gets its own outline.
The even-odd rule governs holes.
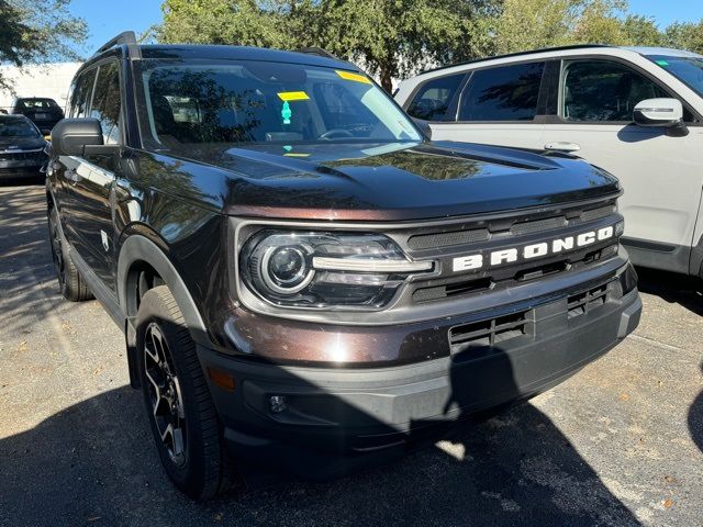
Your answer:
[[[622,216],[615,199],[589,205],[555,206],[550,211],[500,213],[493,217],[447,220],[442,226],[399,232],[397,240],[412,258],[437,259],[439,272],[419,277],[410,282],[406,294],[412,303],[426,303],[459,296],[480,295],[502,288],[566,272],[577,272],[588,266],[617,255],[617,236],[569,248],[549,250],[545,256],[491,265],[493,253],[548,243],[555,239],[599,232],[614,227]],[[513,249],[514,250],[514,249]],[[457,261],[481,255],[480,267],[456,268]]]

